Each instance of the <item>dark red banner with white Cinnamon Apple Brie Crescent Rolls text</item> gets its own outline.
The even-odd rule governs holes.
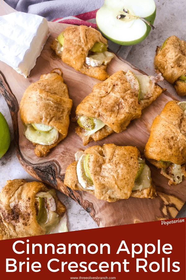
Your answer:
[[[186,279],[185,219],[2,240],[1,277]]]

